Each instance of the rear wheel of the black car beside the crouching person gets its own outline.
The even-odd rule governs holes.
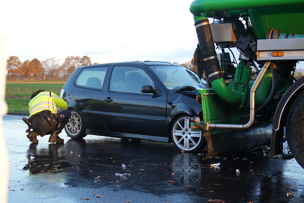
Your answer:
[[[67,133],[67,136],[71,137],[72,139],[81,139],[87,136],[85,134],[85,124],[76,110],[71,110],[71,118],[64,126],[64,130]]]

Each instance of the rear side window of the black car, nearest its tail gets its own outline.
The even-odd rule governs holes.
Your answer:
[[[105,75],[109,66],[98,66],[84,68],[75,80],[75,85],[88,89],[102,90],[105,81]]]

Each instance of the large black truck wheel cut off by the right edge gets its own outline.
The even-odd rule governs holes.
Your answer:
[[[286,137],[293,157],[304,168],[304,92],[290,107],[286,122]]]

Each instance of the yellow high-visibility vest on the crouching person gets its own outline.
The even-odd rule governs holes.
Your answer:
[[[55,114],[57,113],[57,106],[60,109],[65,109],[67,108],[67,102],[54,92],[40,92],[29,102],[29,117],[43,110],[49,110],[52,114]]]

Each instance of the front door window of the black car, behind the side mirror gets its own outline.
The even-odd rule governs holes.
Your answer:
[[[114,66],[110,79],[110,91],[146,94],[141,92],[143,85],[154,87],[153,80],[143,69],[132,66]]]

